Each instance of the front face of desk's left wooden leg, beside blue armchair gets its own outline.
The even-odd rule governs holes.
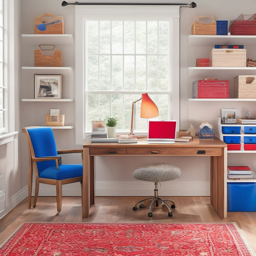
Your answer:
[[[82,218],[89,217],[90,209],[90,156],[89,148],[83,149],[83,196],[82,196]]]

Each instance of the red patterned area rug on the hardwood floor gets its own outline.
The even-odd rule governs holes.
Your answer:
[[[255,256],[233,223],[24,223],[0,256]]]

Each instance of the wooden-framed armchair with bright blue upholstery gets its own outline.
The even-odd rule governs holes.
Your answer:
[[[54,134],[50,127],[24,127],[26,136],[28,169],[28,208],[31,207],[33,170],[36,177],[34,205],[36,207],[39,183],[56,185],[57,211],[61,211],[62,185],[83,182],[82,164],[61,165],[59,154],[82,153],[83,149],[57,150]],[[82,194],[83,196],[83,194]]]

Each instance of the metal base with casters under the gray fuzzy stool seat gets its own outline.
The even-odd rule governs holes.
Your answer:
[[[147,214],[148,217],[152,217],[153,216],[153,213],[152,213],[152,208],[154,206],[154,203],[156,202],[156,207],[158,207],[158,201],[160,201],[162,203],[162,205],[165,205],[168,209],[168,216],[169,217],[172,217],[172,212],[171,212],[171,208],[174,209],[175,208],[175,203],[172,201],[172,200],[164,200],[160,197],[158,197],[158,183],[155,182],[155,189],[154,189],[154,196],[151,196],[151,197],[147,197],[147,198],[144,198],[138,202],[135,203],[135,206],[133,207],[133,210],[137,210],[137,205],[140,204],[140,208],[143,208],[144,207],[144,202],[146,200],[149,200],[149,199],[153,199],[151,204],[150,204],[150,207],[149,207],[149,212]],[[169,207],[169,205],[166,203],[166,202],[171,202],[172,205],[171,205],[171,208]]]

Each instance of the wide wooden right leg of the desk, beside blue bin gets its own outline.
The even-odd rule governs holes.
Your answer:
[[[227,151],[222,149],[220,157],[211,157],[211,204],[219,217],[227,218]]]

